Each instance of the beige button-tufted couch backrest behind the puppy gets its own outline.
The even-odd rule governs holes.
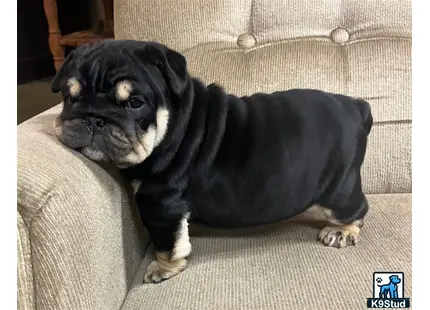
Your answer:
[[[412,191],[410,1],[114,2],[117,39],[181,51],[193,75],[228,92],[317,88],[368,100],[365,191]]]

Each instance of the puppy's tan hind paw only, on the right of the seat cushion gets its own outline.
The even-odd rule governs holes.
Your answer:
[[[326,246],[344,248],[356,245],[360,229],[357,226],[326,226],[318,234],[318,241]]]

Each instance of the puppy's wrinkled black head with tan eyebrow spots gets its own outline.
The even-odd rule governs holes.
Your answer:
[[[188,83],[185,58],[161,44],[105,40],[78,47],[52,83],[64,98],[55,134],[92,160],[137,165],[162,143],[172,102]]]

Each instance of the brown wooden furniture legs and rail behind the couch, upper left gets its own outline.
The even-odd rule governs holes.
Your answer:
[[[64,61],[66,46],[79,46],[106,38],[113,38],[113,1],[103,0],[105,12],[105,30],[96,34],[92,30],[83,30],[62,35],[58,23],[58,9],[56,0],[43,0],[46,19],[49,28],[49,48],[54,59],[55,70],[59,70]]]

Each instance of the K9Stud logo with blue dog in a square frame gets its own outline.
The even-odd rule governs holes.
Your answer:
[[[373,298],[367,299],[368,308],[409,308],[404,296],[403,272],[374,272]]]

